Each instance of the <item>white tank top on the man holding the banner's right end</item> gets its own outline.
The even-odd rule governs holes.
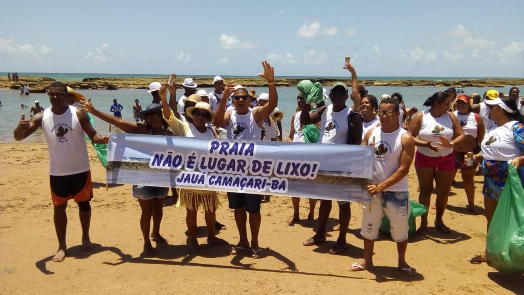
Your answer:
[[[402,134],[408,131],[399,128],[394,132],[382,132],[382,127],[373,129],[368,144],[375,138],[375,162],[373,170],[373,183],[380,184],[387,180],[400,166],[400,154],[402,152]],[[388,192],[407,192],[408,176],[404,176],[399,182],[387,187]]]

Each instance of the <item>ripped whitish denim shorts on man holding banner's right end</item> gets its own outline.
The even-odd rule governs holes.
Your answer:
[[[384,214],[391,223],[391,238],[400,243],[408,239],[408,219],[411,213],[408,192],[382,192],[372,196],[371,203],[362,203],[361,234],[368,240],[378,239],[378,229]]]

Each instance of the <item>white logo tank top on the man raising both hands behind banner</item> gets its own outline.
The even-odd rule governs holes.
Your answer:
[[[260,140],[262,136],[251,109],[245,115],[239,115],[236,111],[232,111],[226,130],[228,139]]]

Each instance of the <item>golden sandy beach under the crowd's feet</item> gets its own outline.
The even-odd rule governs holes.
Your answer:
[[[450,192],[444,215],[449,235],[430,227],[427,236],[413,236],[408,263],[420,273],[407,277],[397,266],[396,245],[386,235],[375,244],[375,267],[349,272],[346,267],[363,257],[360,235],[362,212],[353,203],[348,249],[339,256],[328,251],[337,233],[319,246],[304,247],[313,235],[305,224],[288,226],[291,200],[271,198],[262,204],[261,259],[227,255],[227,246],[204,246],[191,254],[184,235],[185,210],[165,207],[161,233],[168,245],[159,245],[159,256],[141,258],[143,241],[140,209],[130,185],[105,188],[105,170],[88,147],[94,185],[91,240],[95,248],[83,252],[78,208],[69,202],[68,256],[60,263],[51,257],[58,243],[53,227],[49,189],[49,160],[45,144],[0,144],[0,293],[2,294],[523,294],[524,277],[498,273],[467,258],[485,247],[486,219],[465,210],[466,196],[459,186]],[[476,204],[483,207],[482,176],[477,175]],[[409,174],[411,199],[417,199],[417,177]],[[435,196],[432,197],[434,202]],[[236,244],[238,233],[233,211],[221,195],[217,219],[227,226],[218,237]],[[306,217],[308,203],[301,202]],[[205,243],[203,213],[199,212],[199,241]],[[318,205],[315,217],[318,216]],[[333,206],[329,227],[336,224]],[[435,211],[430,209],[432,225]],[[419,221],[419,220],[417,220]]]

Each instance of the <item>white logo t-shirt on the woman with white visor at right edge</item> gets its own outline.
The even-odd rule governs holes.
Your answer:
[[[493,125],[481,143],[484,160],[510,161],[522,155],[515,143],[512,126],[517,121],[509,121],[498,127]]]

